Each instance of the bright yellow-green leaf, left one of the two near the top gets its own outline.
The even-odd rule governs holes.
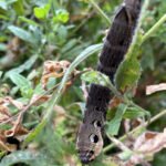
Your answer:
[[[35,7],[33,9],[34,15],[38,19],[46,19],[50,10],[50,4],[45,4],[43,7]]]

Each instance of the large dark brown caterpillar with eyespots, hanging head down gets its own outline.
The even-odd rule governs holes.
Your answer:
[[[114,82],[116,70],[132,43],[141,9],[142,0],[124,0],[105,38],[97,71],[107,75],[111,82]],[[112,97],[113,94],[106,86],[90,85],[85,113],[76,139],[76,148],[83,164],[95,159],[103,148],[106,111]]]

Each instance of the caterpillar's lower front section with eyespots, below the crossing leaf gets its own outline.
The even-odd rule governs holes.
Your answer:
[[[76,148],[83,164],[93,160],[103,148],[102,131],[106,116],[111,91],[107,87],[92,84],[86,102],[83,123],[77,134]]]

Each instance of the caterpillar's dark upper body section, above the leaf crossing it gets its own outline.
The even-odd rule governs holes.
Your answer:
[[[117,11],[105,39],[97,70],[110,76],[112,82],[132,42],[141,4],[141,0],[125,0],[125,3]]]

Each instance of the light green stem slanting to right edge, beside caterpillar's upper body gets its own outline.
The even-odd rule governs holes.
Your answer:
[[[149,37],[152,37],[159,27],[166,21],[166,14],[164,14],[143,37],[142,42],[144,43]]]

